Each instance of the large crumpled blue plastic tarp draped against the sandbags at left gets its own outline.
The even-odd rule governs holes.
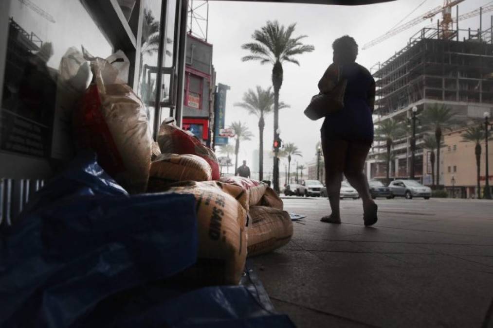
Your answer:
[[[0,327],[70,327],[109,295],[197,258],[191,195],[128,196],[79,158],[1,235]]]

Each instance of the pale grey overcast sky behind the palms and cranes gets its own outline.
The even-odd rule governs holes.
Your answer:
[[[344,34],[354,37],[360,48],[356,62],[369,69],[404,47],[409,37],[421,28],[430,23],[436,24],[436,19],[441,19],[441,14],[438,14],[433,22],[428,19],[370,49],[361,50],[364,43],[387,32],[421,2],[422,0],[397,0],[382,4],[337,6],[210,1],[208,41],[213,44],[213,65],[217,71],[217,82],[231,87],[226,101],[226,124],[232,121],[245,122],[255,135],[252,141],[241,144],[239,161],[245,159],[252,166],[252,152],[258,149],[258,119],[233,104],[241,101],[248,88],[255,88],[256,85],[266,88],[271,85],[272,65],[262,66],[259,62],[241,61],[243,56],[248,55],[247,51],[241,49],[241,45],[251,41],[251,34],[255,29],[264,26],[267,20],[278,20],[283,25],[297,23],[294,35],[308,35],[304,42],[315,46],[314,52],[298,56],[300,66],[283,64],[284,80],[280,93],[280,99],[291,105],[291,108],[280,111],[281,138],[284,142],[294,142],[299,147],[303,153],[299,162],[309,162],[315,157],[315,145],[320,139],[322,120],[310,121],[304,116],[303,110],[311,97],[317,94],[317,82],[331,63],[332,41]],[[492,2],[465,0],[459,4],[459,15]],[[443,0],[426,0],[403,23],[442,4]],[[454,7],[454,17],[455,12]],[[483,15],[483,29],[490,26],[492,14],[493,12],[489,12]],[[478,28],[478,17],[460,21],[459,28]],[[264,149],[272,147],[273,120],[273,115],[266,118]],[[283,165],[281,170],[283,171]]]

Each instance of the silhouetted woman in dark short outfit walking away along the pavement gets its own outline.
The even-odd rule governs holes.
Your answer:
[[[373,105],[375,80],[363,66],[355,63],[358,45],[344,35],[332,43],[333,63],[318,82],[322,94],[329,93],[346,79],[344,107],[327,115],[321,132],[325,164],[325,184],[332,213],[322,222],[340,224],[339,207],[343,174],[363,200],[363,220],[371,226],[378,220],[377,204],[371,199],[363,167],[373,143]]]

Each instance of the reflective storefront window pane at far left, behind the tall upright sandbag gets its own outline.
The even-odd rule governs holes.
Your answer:
[[[10,0],[9,8],[0,149],[63,158],[77,100],[71,98],[73,87],[83,91],[90,82],[88,66],[80,66],[71,85],[60,83],[63,59],[82,48],[106,58],[112,46],[81,1]]]

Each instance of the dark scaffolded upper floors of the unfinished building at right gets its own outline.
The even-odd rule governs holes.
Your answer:
[[[372,66],[375,114],[420,100],[493,103],[493,27],[484,31],[423,28],[406,47]],[[459,34],[466,34],[458,40]]]

